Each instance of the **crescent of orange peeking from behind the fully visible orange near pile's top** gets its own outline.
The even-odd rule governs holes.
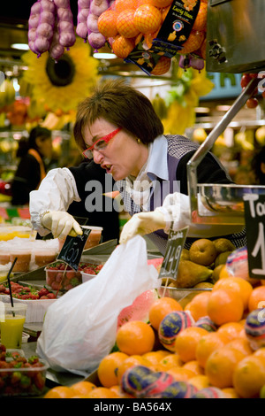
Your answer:
[[[217,289],[230,289],[235,293],[239,293],[244,309],[248,307],[248,299],[253,291],[253,287],[249,281],[240,277],[228,277],[227,279],[216,281],[213,291]]]

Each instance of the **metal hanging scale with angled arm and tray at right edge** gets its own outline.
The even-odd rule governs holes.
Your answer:
[[[208,72],[265,72],[265,2],[264,0],[209,0],[207,26]],[[242,91],[231,109],[211,131],[193,158],[187,163],[187,181],[192,222],[198,224],[244,225],[243,196],[264,194],[265,186],[198,183],[197,166],[246,104],[261,78],[254,78]],[[198,194],[206,208],[200,212]]]

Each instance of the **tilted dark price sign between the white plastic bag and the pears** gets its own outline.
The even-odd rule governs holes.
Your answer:
[[[182,228],[178,231],[170,229],[169,239],[166,247],[166,252],[163,258],[163,263],[160,269],[158,278],[177,280],[178,263],[181,251],[186,242],[186,235],[188,227]]]

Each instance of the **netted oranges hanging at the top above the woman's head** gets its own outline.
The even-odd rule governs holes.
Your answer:
[[[189,2],[190,0],[184,2],[187,11],[194,7],[194,4]],[[115,0],[110,8],[99,16],[98,30],[108,40],[118,58],[127,58],[140,40],[143,40],[146,49],[151,48],[152,41],[170,10],[171,3],[172,0]],[[200,50],[206,37],[206,21],[207,2],[201,1],[193,24],[194,29],[183,44],[184,49],[181,53]],[[174,36],[174,34],[176,32],[170,35]],[[155,71],[151,73],[160,75],[169,71],[170,58],[163,57],[162,63],[160,60],[155,65]]]

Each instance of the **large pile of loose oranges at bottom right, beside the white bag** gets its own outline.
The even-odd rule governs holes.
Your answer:
[[[102,358],[98,367],[101,387],[81,381],[70,388],[51,389],[46,397],[133,397],[121,384],[123,374],[133,366],[169,373],[175,381],[187,381],[197,389],[215,387],[228,398],[260,397],[265,385],[265,347],[253,349],[244,325],[248,313],[263,308],[264,301],[264,285],[253,286],[228,273],[207,295],[199,293],[184,309],[173,298],[159,298],[150,307],[149,323],[135,320],[118,328],[119,351]],[[191,313],[195,323],[179,332],[175,351],[167,351],[157,343],[158,328],[176,311]],[[205,316],[216,324],[216,331],[196,327]]]

